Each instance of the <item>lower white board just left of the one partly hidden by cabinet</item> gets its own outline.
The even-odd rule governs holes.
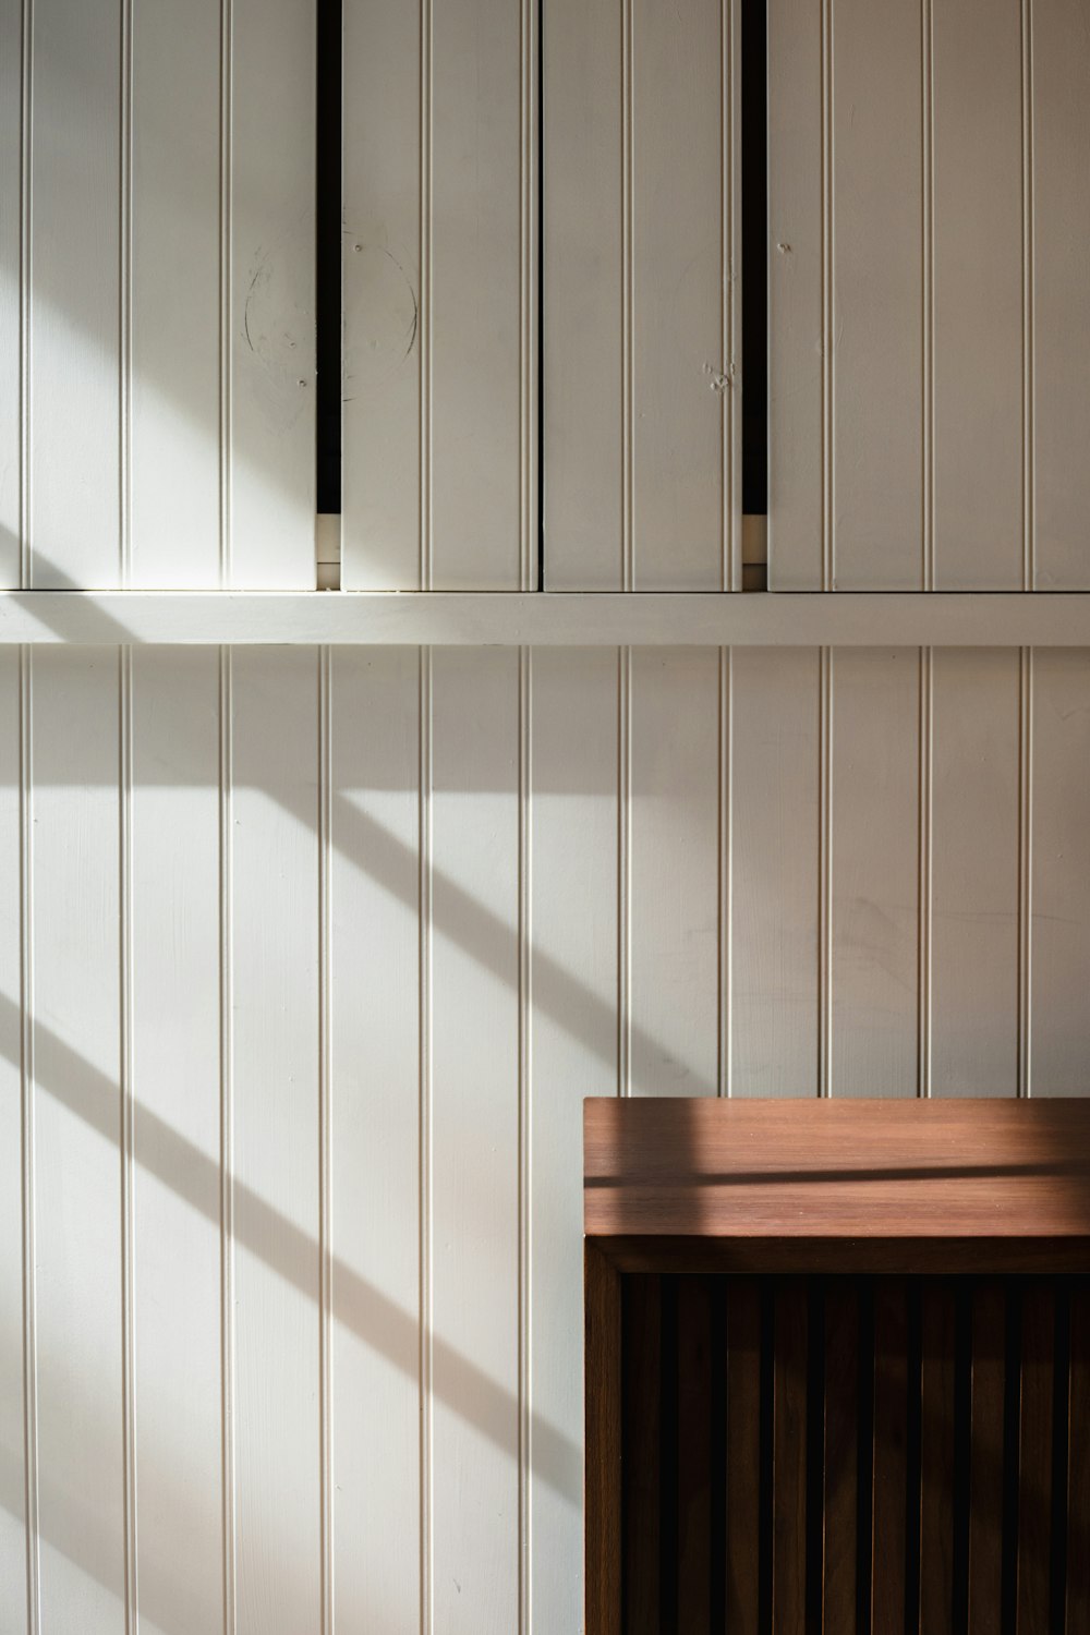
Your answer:
[[[518,1609],[518,656],[433,656],[433,1610]]]

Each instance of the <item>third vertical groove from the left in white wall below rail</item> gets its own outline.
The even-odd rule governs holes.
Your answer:
[[[235,1491],[235,1089],[234,1089],[234,685],[219,649],[219,1228],[224,1504],[224,1635],[239,1617]]]

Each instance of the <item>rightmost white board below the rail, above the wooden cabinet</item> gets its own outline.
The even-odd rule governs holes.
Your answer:
[[[1034,1095],[1085,1094],[1090,1051],[1090,656],[1033,654]]]

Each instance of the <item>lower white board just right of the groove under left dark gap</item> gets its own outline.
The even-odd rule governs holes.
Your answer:
[[[420,1614],[418,659],[332,664],[337,1624]]]

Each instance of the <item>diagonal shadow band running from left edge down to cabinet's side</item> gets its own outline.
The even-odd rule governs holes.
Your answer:
[[[0,994],[0,1033],[18,1038],[18,1006]],[[82,1118],[106,1141],[116,1144],[121,1130],[121,1105],[118,1086],[46,1024],[34,1020],[36,1037],[47,1041],[49,1055],[57,1064],[56,1081],[39,1089]],[[18,1053],[7,1046],[3,1053],[20,1066]],[[221,1225],[221,1172],[219,1164],[201,1153],[186,1136],[180,1135],[157,1113],[137,1104],[137,1131],[145,1131],[144,1153],[137,1162],[154,1174],[176,1197]],[[299,1288],[307,1298],[319,1300],[319,1244],[302,1228],[296,1226],[279,1210],[261,1198],[245,1182],[234,1184],[235,1243],[265,1261],[279,1277]],[[402,1372],[413,1372],[409,1359],[417,1357],[420,1331],[417,1318],[377,1290],[343,1261],[332,1261],[332,1290],[335,1321],[350,1328],[364,1344],[371,1346]],[[497,1385],[482,1368],[462,1357],[441,1336],[431,1339],[433,1386],[441,1382],[436,1395],[476,1431],[494,1442],[502,1452],[516,1452],[518,1401],[502,1385]],[[510,1440],[497,1431],[497,1421],[511,1426]],[[536,1473],[570,1504],[582,1504],[583,1457],[582,1450],[561,1431],[531,1416],[533,1460]]]

